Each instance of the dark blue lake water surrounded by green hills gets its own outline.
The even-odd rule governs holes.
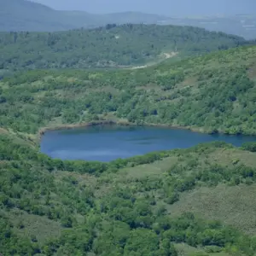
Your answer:
[[[110,161],[172,148],[189,148],[198,143],[224,141],[235,146],[256,142],[256,137],[209,135],[156,127],[96,126],[47,131],[41,151],[62,160]]]

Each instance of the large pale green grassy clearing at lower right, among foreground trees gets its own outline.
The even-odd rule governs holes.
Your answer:
[[[185,192],[168,207],[172,215],[193,212],[201,218],[216,219],[248,235],[256,235],[256,185],[200,188]]]

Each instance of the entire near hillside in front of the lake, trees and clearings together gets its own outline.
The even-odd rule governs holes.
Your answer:
[[[212,143],[103,164],[51,160],[4,130],[0,142],[5,256],[255,255],[255,153]],[[221,188],[244,199],[215,197],[221,218],[205,217]],[[188,212],[201,189],[204,205]]]

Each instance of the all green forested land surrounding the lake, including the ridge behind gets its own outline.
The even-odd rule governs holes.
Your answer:
[[[108,121],[255,135],[256,46],[246,44],[176,26],[2,33],[0,254],[255,256],[256,143],[108,163],[39,147],[47,129]]]

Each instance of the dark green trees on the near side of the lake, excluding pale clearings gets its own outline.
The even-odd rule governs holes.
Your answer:
[[[254,183],[255,168],[201,166],[200,159],[195,156],[203,157],[214,150],[228,149],[230,145],[210,143],[102,164],[50,160],[44,154],[38,154],[38,149],[28,140],[7,133],[1,134],[0,138],[0,207],[6,212],[6,217],[0,218],[4,236],[0,240],[0,252],[4,255],[177,256],[173,245],[177,242],[208,249],[218,247],[220,251],[236,247],[237,252],[248,256],[255,249],[253,238],[218,222],[196,218],[191,213],[173,218],[172,213],[170,216],[166,207],[158,202],[174,203],[184,191],[203,184],[237,185],[246,183],[247,178]],[[179,161],[160,177],[134,178],[131,183],[114,181],[115,177],[119,179],[115,172],[125,166],[152,163],[168,156],[178,157]],[[74,175],[65,171],[72,171]],[[79,173],[84,172],[96,174],[97,186],[104,184],[110,191],[99,195],[96,188],[84,184],[80,178]],[[56,173],[59,174],[55,176]],[[108,175],[109,181],[104,182]],[[233,182],[236,180],[238,183]],[[13,227],[5,221],[13,209],[60,222],[61,235],[49,236],[43,243],[34,235],[16,236],[14,229],[24,230],[26,225],[19,221]]]

